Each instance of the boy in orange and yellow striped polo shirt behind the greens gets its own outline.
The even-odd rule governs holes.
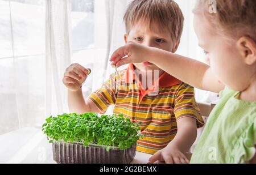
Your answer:
[[[134,41],[174,53],[179,46],[183,20],[174,1],[135,0],[124,16],[125,42]],[[88,71],[75,64],[64,74],[71,112],[105,113],[114,104],[115,114],[141,122],[143,138],[137,142],[138,151],[166,152],[166,163],[188,163],[184,154],[195,142],[197,127],[204,124],[193,87],[150,62],[134,63],[110,75],[100,89],[84,100],[80,87]]]

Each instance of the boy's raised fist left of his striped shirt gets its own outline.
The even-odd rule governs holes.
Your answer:
[[[90,69],[85,69],[78,63],[69,66],[63,77],[63,84],[71,91],[78,91],[90,74]]]

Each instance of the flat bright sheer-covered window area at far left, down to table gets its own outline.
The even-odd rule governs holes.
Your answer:
[[[0,134],[45,117],[45,2],[0,0]]]

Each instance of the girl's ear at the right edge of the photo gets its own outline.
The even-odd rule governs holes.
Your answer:
[[[241,37],[237,41],[237,48],[246,65],[256,63],[256,43],[253,39],[247,36]]]

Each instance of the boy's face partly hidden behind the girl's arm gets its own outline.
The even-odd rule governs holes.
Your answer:
[[[167,30],[159,32],[156,28],[159,28],[159,26],[151,25],[151,28],[149,28],[146,24],[138,23],[131,28],[129,35],[125,35],[125,42],[134,41],[145,46],[176,52],[179,42],[174,43],[172,41],[171,32]],[[163,72],[150,62],[134,63],[134,66],[140,71],[159,70],[159,73]]]

